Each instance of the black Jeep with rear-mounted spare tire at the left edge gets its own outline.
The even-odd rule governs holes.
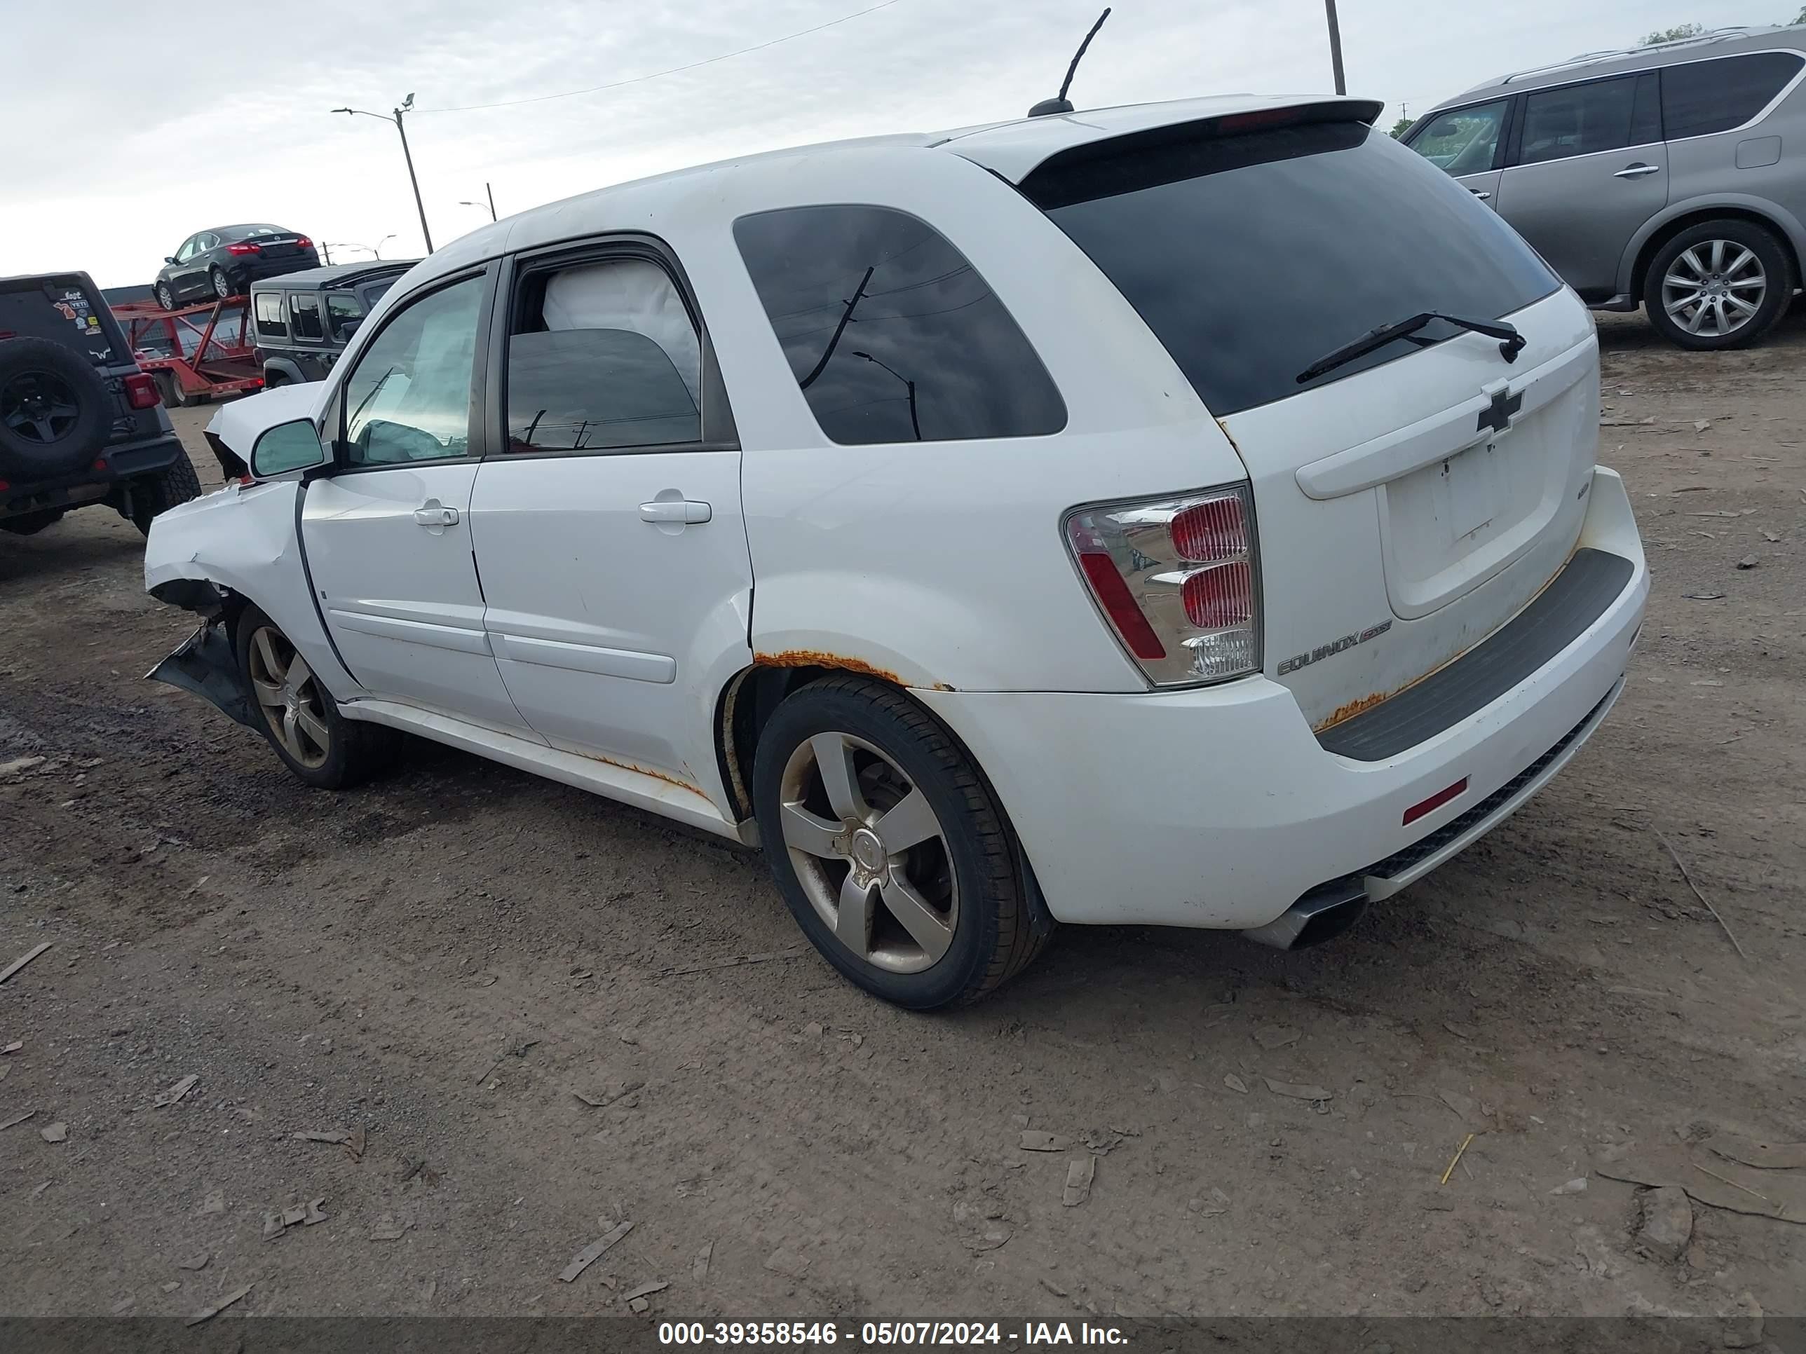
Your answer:
[[[0,531],[105,504],[139,531],[200,493],[157,383],[87,273],[0,278]]]

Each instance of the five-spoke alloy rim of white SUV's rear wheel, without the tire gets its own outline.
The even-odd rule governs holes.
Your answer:
[[[919,973],[954,942],[959,883],[921,785],[851,733],[818,733],[784,765],[784,847],[809,904],[874,968]]]

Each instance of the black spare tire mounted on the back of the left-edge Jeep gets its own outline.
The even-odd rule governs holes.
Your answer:
[[[49,339],[0,339],[0,478],[81,469],[107,446],[112,404],[81,354]]]

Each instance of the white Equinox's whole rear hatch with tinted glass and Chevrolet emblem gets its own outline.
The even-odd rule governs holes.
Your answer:
[[[1587,312],[1497,215],[1360,121],[1369,107],[1093,141],[1022,181],[1248,468],[1262,668],[1315,728],[1466,652],[1560,572],[1598,441]],[[1299,379],[1429,311],[1503,318],[1522,348],[1432,321]]]

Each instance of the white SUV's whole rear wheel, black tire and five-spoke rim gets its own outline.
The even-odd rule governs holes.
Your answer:
[[[883,682],[827,677],[793,691],[760,733],[753,811],[804,935],[887,1002],[977,1000],[1051,932],[990,785],[926,709]]]

